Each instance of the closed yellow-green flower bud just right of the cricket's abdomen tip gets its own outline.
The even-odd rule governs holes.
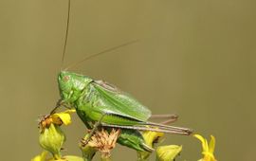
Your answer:
[[[174,161],[176,155],[182,150],[182,146],[178,145],[167,145],[160,146],[156,149],[156,160],[157,161]]]

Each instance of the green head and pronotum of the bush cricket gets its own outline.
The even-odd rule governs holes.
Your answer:
[[[76,73],[61,71],[58,76],[59,90],[65,102],[72,103],[80,98],[83,89],[92,79]]]

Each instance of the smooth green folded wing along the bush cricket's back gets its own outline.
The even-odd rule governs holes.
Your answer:
[[[117,87],[101,80],[93,81],[92,84],[99,93],[101,103],[97,107],[98,110],[122,119],[130,118],[142,122],[151,116],[151,111],[147,107],[130,95],[119,91]]]

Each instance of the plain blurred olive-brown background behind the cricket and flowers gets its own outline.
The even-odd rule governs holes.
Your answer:
[[[253,160],[256,100],[256,2],[253,0],[72,0],[64,64],[139,39],[72,71],[107,80],[155,114],[178,114],[175,125],[216,136],[216,158]],[[59,98],[67,0],[1,0],[0,160],[29,160],[41,152],[38,116]],[[85,132],[74,115],[64,153],[80,154]],[[193,137],[178,160],[197,160]],[[118,147],[113,160],[136,160]],[[96,159],[97,160],[97,159]],[[154,158],[152,158],[154,160]]]

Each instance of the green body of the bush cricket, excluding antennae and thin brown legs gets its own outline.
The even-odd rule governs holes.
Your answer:
[[[151,111],[114,86],[66,71],[59,74],[58,82],[62,100],[76,108],[88,129],[101,118],[106,125],[146,128],[149,124]],[[138,151],[150,151],[137,129],[122,129],[118,142]]]

